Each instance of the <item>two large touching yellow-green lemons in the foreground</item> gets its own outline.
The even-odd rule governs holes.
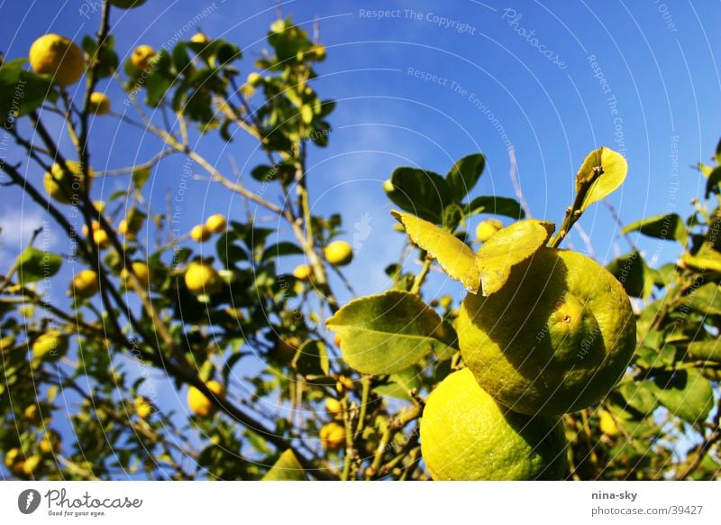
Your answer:
[[[503,227],[477,229],[487,242]],[[634,313],[620,282],[588,257],[542,247],[506,284],[469,293],[455,325],[465,368],[429,396],[421,449],[436,480],[561,479],[564,413],[598,403],[625,373]],[[603,431],[610,428],[601,420]]]

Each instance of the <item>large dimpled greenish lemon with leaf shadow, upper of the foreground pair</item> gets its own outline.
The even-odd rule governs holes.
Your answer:
[[[461,355],[479,385],[523,414],[562,414],[600,401],[634,353],[624,288],[580,253],[542,248],[501,290],[468,294]]]

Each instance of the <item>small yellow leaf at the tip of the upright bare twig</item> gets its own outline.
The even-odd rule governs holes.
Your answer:
[[[602,168],[603,173],[591,184],[586,196],[580,203],[580,210],[583,211],[594,202],[606,198],[616,191],[625,180],[628,172],[628,164],[623,155],[605,147],[600,147],[590,152],[576,175],[576,193],[588,183],[593,177],[594,168]]]

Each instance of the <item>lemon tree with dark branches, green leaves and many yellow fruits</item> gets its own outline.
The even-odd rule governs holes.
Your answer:
[[[333,137],[332,51],[291,18],[249,35],[260,53],[199,28],[116,50],[114,23],[150,4],[98,3],[89,34],[32,35],[0,64],[4,184],[47,218],[0,268],[0,474],[717,477],[721,150],[689,216],[628,217],[637,244],[678,250],[661,267],[564,245],[625,179],[607,147],[578,157],[567,209],[535,218],[484,190],[481,152],[400,166],[379,191],[417,264],[339,299],[360,243],[314,206],[307,164]],[[101,124],[157,154],[105,155]],[[241,141],[259,152],[242,169],[207,156]],[[149,195],[175,162],[233,207],[188,190],[174,225]]]

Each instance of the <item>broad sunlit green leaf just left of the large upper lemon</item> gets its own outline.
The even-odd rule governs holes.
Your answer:
[[[351,300],[326,326],[341,336],[346,363],[360,373],[397,373],[431,350],[455,345],[443,319],[416,295],[390,290]]]

